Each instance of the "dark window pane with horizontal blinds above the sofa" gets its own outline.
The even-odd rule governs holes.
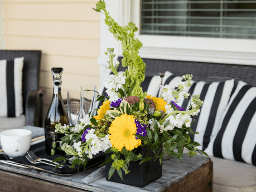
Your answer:
[[[141,34],[256,39],[256,0],[142,0]]]

